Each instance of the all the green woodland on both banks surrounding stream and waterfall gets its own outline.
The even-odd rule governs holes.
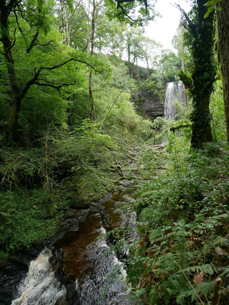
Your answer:
[[[154,0],[0,1],[0,260],[127,179],[139,240],[106,235],[129,300],[229,304],[229,3],[190,3],[173,52],[145,34]],[[152,120],[141,93],[179,80],[176,117]]]

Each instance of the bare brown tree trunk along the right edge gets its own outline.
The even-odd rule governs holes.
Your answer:
[[[217,4],[222,10],[216,11],[218,28],[218,51],[222,75],[224,112],[226,117],[227,141],[229,142],[229,1]]]

